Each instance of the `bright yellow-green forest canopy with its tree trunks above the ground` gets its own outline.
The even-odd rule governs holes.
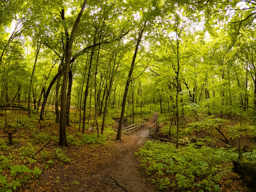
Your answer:
[[[33,103],[40,120],[55,105],[61,145],[70,106],[83,132],[86,110],[105,120],[109,105],[122,107],[120,140],[127,99],[160,102],[161,112],[165,103],[176,116],[188,109],[255,123],[254,4],[2,1],[0,102],[25,104],[28,116]]]

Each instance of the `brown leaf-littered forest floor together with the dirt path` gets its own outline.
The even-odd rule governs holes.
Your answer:
[[[26,114],[17,114],[17,118]],[[0,117],[3,121],[3,118]],[[22,120],[22,119],[21,119]],[[44,124],[48,125],[43,130],[32,129],[31,127],[23,127],[20,133],[14,135],[14,145],[5,147],[0,150],[0,156],[9,156],[10,159],[15,159],[15,164],[23,164],[28,157],[23,156],[24,151],[29,151],[31,148],[38,149],[42,146],[41,141],[44,134],[40,135],[41,131],[53,134],[52,139],[40,151],[40,155],[35,155],[35,162],[28,164],[28,167],[33,169],[37,166],[42,169],[42,173],[38,178],[31,178],[27,183],[23,183],[20,188],[15,191],[26,192],[53,192],[53,191],[68,191],[68,192],[154,192],[159,191],[156,185],[151,184],[148,175],[140,168],[140,163],[135,156],[135,152],[143,145],[144,141],[149,140],[148,127],[158,120],[158,114],[155,113],[152,118],[149,118],[147,125],[140,128],[138,131],[129,135],[122,134],[122,141],[115,140],[116,134],[112,133],[106,140],[104,145],[100,143],[84,143],[83,145],[72,145],[68,148],[61,148],[64,155],[64,161],[56,160],[56,149],[60,149],[58,145],[58,124],[54,121],[45,120]],[[23,121],[23,120],[22,120]],[[25,122],[25,120],[24,120]],[[39,127],[37,121],[27,121],[27,124],[34,124]],[[115,124],[117,126],[117,124]],[[116,130],[117,127],[114,127]],[[77,133],[77,128],[67,127],[69,134]],[[88,131],[89,133],[90,131]],[[69,135],[70,136],[70,135]],[[54,139],[55,138],[55,139]],[[7,139],[8,140],[8,139]],[[5,143],[6,135],[0,132],[0,144]],[[35,142],[37,141],[37,142]],[[248,145],[248,139],[244,142]],[[29,144],[29,145],[28,145]],[[27,146],[27,147],[26,147]],[[47,155],[48,154],[48,155]],[[43,160],[43,156],[47,156]],[[65,163],[65,158],[69,159]],[[52,161],[52,164],[47,163],[47,160]],[[14,160],[13,160],[14,161]],[[9,172],[4,172],[9,175]],[[250,191],[246,188],[241,180],[241,177],[229,172],[223,175],[220,180],[221,191]],[[168,191],[168,190],[166,190]],[[179,189],[177,188],[177,190]]]

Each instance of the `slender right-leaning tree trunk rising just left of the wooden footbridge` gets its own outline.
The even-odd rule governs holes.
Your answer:
[[[129,84],[132,80],[132,71],[133,71],[133,68],[134,68],[135,59],[137,57],[139,44],[140,44],[140,41],[141,41],[141,38],[142,38],[142,35],[143,35],[144,28],[146,27],[146,24],[147,24],[147,22],[145,21],[144,25],[140,28],[139,36],[138,36],[138,39],[137,39],[137,42],[136,42],[135,51],[134,51],[134,54],[133,54],[133,57],[132,57],[131,68],[130,68],[130,71],[129,71],[128,78],[126,80],[126,85],[125,85],[125,89],[124,89],[124,97],[123,97],[123,102],[122,102],[122,110],[121,110],[118,130],[117,130],[117,134],[116,134],[116,140],[121,140],[121,132],[122,132],[122,127],[123,127],[125,104],[126,104],[126,98],[127,98],[127,94],[128,94],[128,90],[129,90]]]

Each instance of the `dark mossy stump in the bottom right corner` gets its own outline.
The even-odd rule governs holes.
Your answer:
[[[233,162],[233,171],[240,174],[244,183],[256,191],[256,163],[248,160]]]

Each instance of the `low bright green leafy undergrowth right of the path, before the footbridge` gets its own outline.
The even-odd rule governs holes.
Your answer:
[[[237,154],[223,148],[195,147],[191,144],[176,150],[171,143],[147,141],[136,155],[148,175],[154,175],[156,179],[152,181],[159,189],[177,185],[185,190],[200,185],[205,190],[218,191],[219,172],[230,170],[225,163],[238,160]],[[195,180],[199,180],[199,184],[195,184]]]

